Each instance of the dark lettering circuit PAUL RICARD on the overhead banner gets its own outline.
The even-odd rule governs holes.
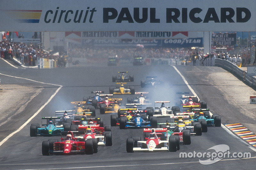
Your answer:
[[[85,23],[87,20],[93,23],[93,16],[97,15],[95,8],[87,7],[86,10],[65,10],[57,7],[55,11],[48,10],[44,15],[45,23]],[[159,9],[158,9],[159,10]],[[216,12],[218,11],[218,12]],[[129,22],[129,23],[243,23],[251,18],[251,12],[247,8],[166,8],[165,16],[157,16],[156,8],[103,8],[103,23],[109,22]],[[164,17],[160,18],[160,17]],[[95,17],[96,18],[96,17]]]

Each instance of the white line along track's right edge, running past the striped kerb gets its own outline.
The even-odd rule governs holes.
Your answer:
[[[188,89],[193,93],[193,95],[194,95],[194,96],[197,96],[197,95],[196,95],[196,92],[191,88],[191,86],[188,84],[187,80],[186,80],[185,77],[180,73],[180,71],[179,71],[175,66],[172,66],[172,67],[178,72],[178,74],[181,76],[181,78],[183,79],[183,81],[185,82],[185,84],[188,86]],[[197,96],[197,98],[198,98],[198,100],[200,100],[198,96]],[[210,113],[210,115],[212,116],[212,113],[211,113],[210,111],[209,111],[209,113]],[[237,136],[236,136],[234,133],[232,133],[225,125],[221,124],[221,127],[222,127],[224,130],[226,130],[226,131],[228,132],[228,134],[230,134],[230,135],[232,135],[233,137],[237,138],[240,142],[243,142],[244,144],[247,144],[250,149],[252,149],[254,152],[256,152],[256,148],[255,148],[255,147],[253,147],[252,145],[246,143],[242,138],[237,137]]]

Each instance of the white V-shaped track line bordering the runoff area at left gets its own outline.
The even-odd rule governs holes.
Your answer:
[[[54,84],[50,84],[50,83],[44,83],[44,82],[40,82],[40,81],[35,81],[35,80],[31,80],[31,79],[28,79],[28,78],[21,78],[21,77],[15,77],[15,76],[10,76],[10,75],[6,75],[6,74],[2,74],[0,73],[0,75],[3,75],[3,76],[8,76],[8,77],[13,77],[13,78],[20,78],[20,79],[25,79],[25,80],[29,80],[29,81],[33,81],[33,82],[37,82],[37,83],[42,83],[42,84],[47,84],[47,85],[54,85]],[[10,135],[8,135],[7,137],[5,137],[1,142],[0,142],[0,146],[2,144],[4,144],[4,142],[6,142],[10,137],[12,137],[14,134],[16,134],[17,132],[19,132],[21,129],[23,129],[36,115],[38,115],[38,113],[52,100],[52,98],[60,91],[60,89],[62,88],[62,85],[56,85],[56,86],[59,86],[59,88],[56,90],[55,93],[52,94],[52,96],[50,97],[50,99],[47,100],[46,103],[44,103],[44,105],[42,107],[40,107],[39,110],[37,110],[37,112],[31,116],[27,122],[25,122],[23,125],[20,126],[19,129],[17,129],[16,131],[12,132]]]

